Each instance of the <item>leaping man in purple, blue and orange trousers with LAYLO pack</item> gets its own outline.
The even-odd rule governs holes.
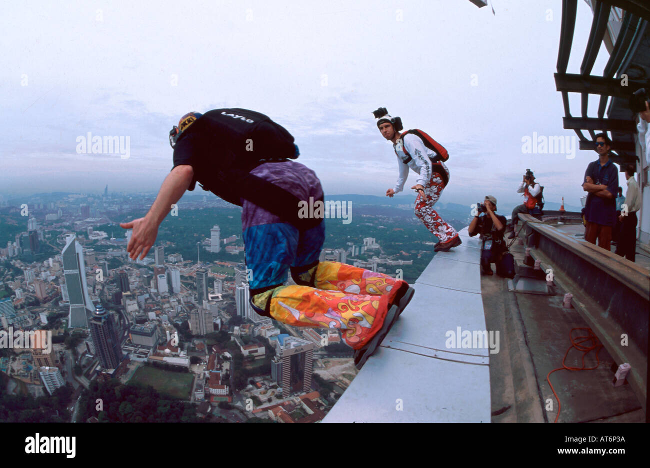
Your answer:
[[[174,167],[127,252],[144,258],[158,227],[185,190],[200,182],[242,206],[250,302],[257,314],[292,326],[337,328],[355,350],[357,368],[374,354],[413,296],[403,280],[338,262],[318,262],[324,219],[298,216],[300,201],[323,200],[320,180],[298,157],[294,138],[259,112],[240,108],[190,112],[170,131]],[[287,271],[296,282],[285,286]]]

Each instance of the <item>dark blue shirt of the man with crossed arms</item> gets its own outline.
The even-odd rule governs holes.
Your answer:
[[[600,159],[589,163],[584,173],[582,182],[591,177],[596,185],[606,185],[607,190],[612,193],[612,198],[597,197],[593,193],[587,195],[584,207],[584,217],[590,223],[597,223],[604,226],[616,224],[616,195],[618,194],[618,169],[608,160],[607,164],[601,166]]]

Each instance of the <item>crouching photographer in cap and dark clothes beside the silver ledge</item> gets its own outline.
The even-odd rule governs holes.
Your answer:
[[[467,231],[470,237],[481,235],[481,270],[486,275],[493,275],[490,264],[497,265],[497,275],[513,278],[514,258],[508,253],[503,234],[506,230],[506,217],[495,214],[497,199],[487,195],[484,203],[478,203],[478,215],[474,216]]]

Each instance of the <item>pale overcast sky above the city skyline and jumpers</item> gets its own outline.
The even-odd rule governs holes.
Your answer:
[[[4,3],[0,193],[157,191],[181,115],[242,107],[294,135],[327,195],[383,195],[397,162],[371,111],[385,106],[447,148],[443,203],[520,203],[530,167],[547,201],[578,205],[597,154],[522,142],[575,140],[553,80],[561,1],[491,3],[495,15],[469,0]],[[578,2],[569,73],[592,18]],[[603,46],[595,72],[607,58]],[[129,137],[129,157],[77,153],[88,132]]]

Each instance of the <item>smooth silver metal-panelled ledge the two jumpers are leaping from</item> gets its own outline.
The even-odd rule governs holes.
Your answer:
[[[460,234],[460,246],[422,271],[413,300],[323,423],[489,423],[487,345],[446,346],[450,330],[486,330],[480,244],[467,228]]]

